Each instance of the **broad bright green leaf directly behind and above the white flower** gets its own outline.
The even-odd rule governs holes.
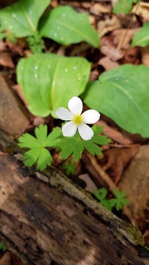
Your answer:
[[[83,58],[40,54],[20,60],[17,80],[32,114],[57,117],[57,108],[84,91],[89,73],[90,63]]]

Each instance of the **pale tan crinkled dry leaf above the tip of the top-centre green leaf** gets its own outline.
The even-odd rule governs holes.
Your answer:
[[[107,17],[105,20],[100,20],[97,23],[97,29],[102,38],[106,33],[121,27],[119,18],[113,15],[112,18]]]

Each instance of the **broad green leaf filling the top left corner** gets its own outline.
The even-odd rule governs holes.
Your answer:
[[[35,34],[39,19],[51,0],[19,0],[0,10],[0,25],[16,37]]]

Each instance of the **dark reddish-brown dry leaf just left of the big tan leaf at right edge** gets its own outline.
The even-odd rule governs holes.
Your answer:
[[[110,148],[104,152],[104,158],[107,160],[103,169],[105,171],[110,169],[110,176],[114,178],[115,183],[118,183],[124,168],[136,155],[139,146],[135,145],[130,148]]]

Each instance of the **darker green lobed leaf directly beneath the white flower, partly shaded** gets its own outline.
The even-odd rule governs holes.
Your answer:
[[[100,128],[97,125],[92,127],[94,131],[94,136],[90,140],[83,140],[80,138],[78,132],[73,137],[64,137],[62,136],[61,142],[58,143],[58,146],[61,148],[61,159],[67,159],[73,154],[74,162],[77,162],[82,155],[84,149],[86,149],[92,155],[102,155],[102,149],[98,145],[107,145],[110,142],[106,136],[98,135],[101,133],[103,127]]]

